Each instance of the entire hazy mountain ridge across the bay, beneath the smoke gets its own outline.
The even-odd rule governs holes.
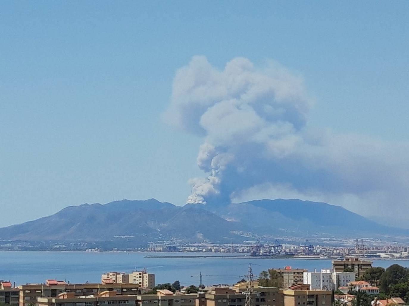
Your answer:
[[[261,199],[228,205],[176,206],[151,198],[67,206],[53,215],[0,228],[0,239],[111,241],[127,236],[133,237],[135,244],[171,239],[225,243],[243,240],[243,232],[266,239],[409,237],[409,230],[384,226],[324,202]]]

